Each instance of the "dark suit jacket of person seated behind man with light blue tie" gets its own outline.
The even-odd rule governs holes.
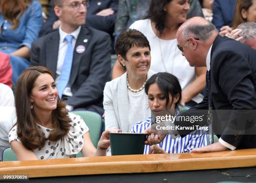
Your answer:
[[[112,8],[115,13],[109,16],[98,16],[96,13],[101,10]],[[104,32],[113,34],[115,28],[115,18],[118,11],[118,0],[90,0],[90,5],[87,8],[85,26],[102,30]],[[59,18],[55,15],[54,10],[49,10],[49,15],[46,23],[39,32],[39,37],[53,32],[52,25]]]

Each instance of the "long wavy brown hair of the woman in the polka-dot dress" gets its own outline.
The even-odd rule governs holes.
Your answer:
[[[52,111],[54,130],[51,131],[46,139],[43,133],[38,129],[38,119],[31,110],[31,90],[39,75],[47,73],[53,77],[53,74],[45,67],[31,67],[23,71],[18,79],[15,89],[15,107],[17,114],[17,135],[21,143],[28,149],[33,150],[42,148],[46,140],[57,141],[64,135],[67,135],[71,126],[71,120],[66,110],[66,103],[58,97],[57,108]],[[53,77],[54,78],[54,77]]]

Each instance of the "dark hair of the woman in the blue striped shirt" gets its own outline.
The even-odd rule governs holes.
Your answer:
[[[182,99],[182,89],[181,86],[179,85],[178,78],[170,73],[156,73],[152,75],[151,78],[147,80],[145,85],[145,92],[147,95],[149,86],[154,83],[157,84],[158,88],[161,90],[161,92],[164,94],[166,98],[166,108],[170,100],[169,94],[172,95],[172,105],[174,97],[176,97],[177,94],[179,93],[179,100],[177,101],[177,103],[175,103],[175,108],[178,108],[179,103]]]

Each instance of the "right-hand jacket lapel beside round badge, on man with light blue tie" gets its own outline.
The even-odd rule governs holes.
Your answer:
[[[80,30],[80,33],[77,37],[76,45],[74,47],[72,70],[71,70],[71,74],[70,74],[70,84],[71,84],[71,86],[73,85],[74,80],[77,77],[79,65],[80,65],[80,62],[82,60],[82,55],[84,55],[86,53],[87,45],[90,42],[90,38],[91,38],[91,36],[89,35],[89,30],[82,26],[81,30]],[[84,48],[85,48],[84,53],[77,53],[76,48],[79,45],[84,46]]]

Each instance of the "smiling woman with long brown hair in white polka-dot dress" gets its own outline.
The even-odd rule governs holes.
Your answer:
[[[103,132],[96,150],[87,125],[67,112],[58,94],[49,69],[32,67],[20,75],[15,93],[17,123],[9,133],[18,160],[71,158],[80,151],[83,156],[106,155],[108,133],[120,130]]]

